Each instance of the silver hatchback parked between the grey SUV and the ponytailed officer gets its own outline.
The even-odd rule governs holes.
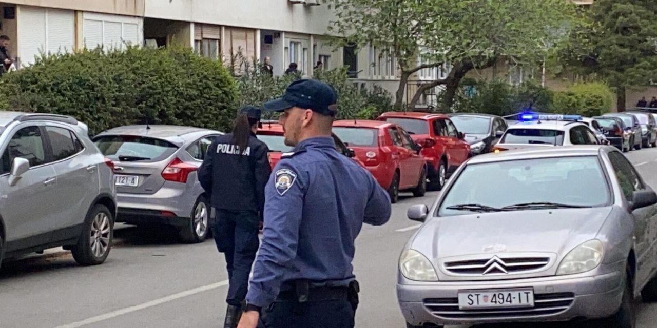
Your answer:
[[[117,127],[95,136],[114,161],[116,222],[174,226],[186,243],[208,236],[209,197],[196,170],[218,131],[170,125]]]

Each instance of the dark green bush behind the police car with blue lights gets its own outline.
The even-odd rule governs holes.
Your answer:
[[[518,87],[503,79],[482,81],[468,79],[457,94],[455,112],[489,113],[510,115],[522,110],[546,112],[552,103],[553,94],[534,81]]]

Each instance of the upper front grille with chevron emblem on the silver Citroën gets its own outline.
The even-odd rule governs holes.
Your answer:
[[[445,262],[447,272],[458,276],[495,276],[507,274],[523,274],[540,270],[550,263],[548,257],[513,257],[484,258],[480,260],[461,260]]]

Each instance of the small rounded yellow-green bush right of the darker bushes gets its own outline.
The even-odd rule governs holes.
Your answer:
[[[578,83],[567,91],[555,92],[553,102],[552,112],[591,117],[612,109],[614,93],[604,83]]]

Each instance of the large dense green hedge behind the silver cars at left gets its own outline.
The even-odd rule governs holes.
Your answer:
[[[44,54],[1,84],[3,109],[71,115],[92,134],[146,121],[226,130],[237,100],[221,62],[189,49]]]

